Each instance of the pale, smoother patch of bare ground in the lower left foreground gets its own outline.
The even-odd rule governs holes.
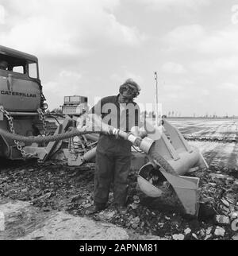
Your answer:
[[[1,240],[144,239],[111,223],[95,222],[62,211],[43,211],[23,201],[5,202],[0,205],[0,211],[6,219],[6,230],[0,232]]]

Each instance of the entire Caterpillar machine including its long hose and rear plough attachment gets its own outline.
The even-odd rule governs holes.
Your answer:
[[[171,187],[186,214],[198,216],[199,178],[186,174],[209,166],[199,150],[191,147],[167,118],[157,125],[145,119],[139,130],[126,133],[89,114],[82,104],[77,107],[77,100],[87,103],[86,97],[65,97],[63,122],[53,135],[46,136],[44,112],[48,106],[36,56],[0,46],[0,64],[1,61],[7,63],[5,69],[0,69],[1,157],[36,158],[41,162],[57,159],[70,166],[81,166],[94,161],[99,134],[112,134],[132,143],[132,169],[138,171],[137,182],[142,192],[159,197]],[[39,121],[43,123],[43,133],[37,127]],[[148,178],[151,173],[152,178]],[[169,186],[164,189],[166,183]]]

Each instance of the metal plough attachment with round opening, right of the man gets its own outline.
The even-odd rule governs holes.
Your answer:
[[[150,123],[146,125],[152,129]],[[146,195],[159,197],[163,194],[163,184],[167,180],[174,188],[186,214],[197,216],[199,178],[183,175],[198,169],[208,169],[209,166],[199,150],[188,145],[180,131],[167,120],[163,120],[163,129],[155,127],[155,132],[148,135],[155,143],[148,153],[150,162],[140,169],[139,187]],[[146,179],[149,173],[157,176],[156,184],[160,184],[161,189],[153,184],[153,180]]]

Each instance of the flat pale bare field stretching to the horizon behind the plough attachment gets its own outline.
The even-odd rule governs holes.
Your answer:
[[[171,119],[190,145],[197,146],[209,166],[238,169],[237,119]]]

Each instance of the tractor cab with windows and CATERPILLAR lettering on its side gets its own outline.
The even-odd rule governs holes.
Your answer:
[[[36,56],[0,46],[0,105],[6,111],[36,112],[41,104]]]

